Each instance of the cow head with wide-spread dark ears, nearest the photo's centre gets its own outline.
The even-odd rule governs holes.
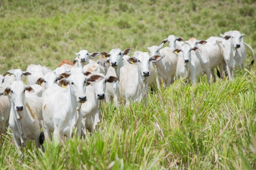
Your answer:
[[[139,72],[142,76],[148,77],[150,75],[150,62],[158,62],[163,57],[160,55],[149,56],[149,53],[141,52],[135,57],[130,57],[127,61],[133,65],[138,65]]]

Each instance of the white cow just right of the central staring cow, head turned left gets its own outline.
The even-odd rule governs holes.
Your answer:
[[[150,51],[151,56],[163,56],[163,59],[155,63],[155,65],[157,66],[158,75],[165,81],[165,87],[168,87],[170,84],[174,82],[174,75],[176,72],[178,59],[177,55],[173,53],[175,49],[172,49],[170,47],[162,47],[163,43],[161,43],[159,46],[154,45],[152,47],[148,47],[148,50]]]

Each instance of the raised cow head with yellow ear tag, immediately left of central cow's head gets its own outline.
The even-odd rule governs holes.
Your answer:
[[[102,52],[103,57],[109,57],[110,65],[113,68],[117,68],[117,66],[122,65],[123,62],[123,56],[128,55],[131,52],[131,48],[127,48],[124,51],[122,51],[120,48],[112,49],[110,53]]]

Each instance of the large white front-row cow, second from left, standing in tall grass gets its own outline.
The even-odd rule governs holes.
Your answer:
[[[103,78],[97,74],[85,77],[76,73],[45,90],[42,109],[46,139],[51,139],[53,132],[53,139],[58,143],[64,136],[70,138],[74,128],[78,128],[78,134],[81,134],[80,109],[87,100],[85,83],[96,83]]]

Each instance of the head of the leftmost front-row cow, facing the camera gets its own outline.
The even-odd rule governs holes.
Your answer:
[[[9,95],[11,94],[12,106],[14,106],[15,111],[22,111],[25,104],[25,91],[34,92],[32,87],[25,86],[23,81],[17,80],[12,82],[11,87],[7,87],[0,95]],[[23,116],[22,113],[18,113],[17,119],[21,119]]]

